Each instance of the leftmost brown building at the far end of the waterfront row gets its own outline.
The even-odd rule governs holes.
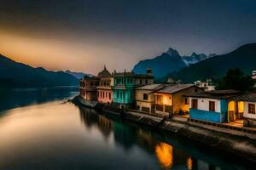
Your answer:
[[[98,77],[85,76],[80,80],[79,92],[80,96],[85,100],[97,101],[97,86],[100,79]]]

